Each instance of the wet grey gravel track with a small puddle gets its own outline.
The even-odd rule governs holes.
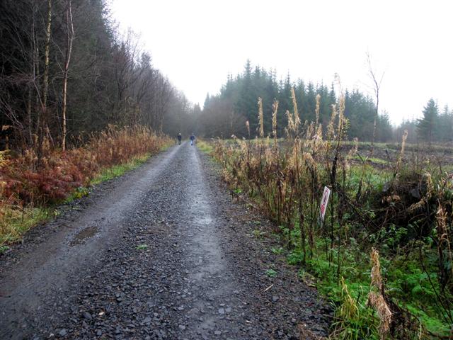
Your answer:
[[[184,142],[29,232],[0,256],[0,339],[325,336],[328,305],[216,168]]]

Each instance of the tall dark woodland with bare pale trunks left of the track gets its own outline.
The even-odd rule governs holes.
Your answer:
[[[193,105],[115,27],[105,0],[0,1],[1,140],[39,151],[108,125],[188,132]]]

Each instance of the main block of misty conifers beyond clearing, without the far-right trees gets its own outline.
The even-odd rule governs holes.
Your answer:
[[[297,108],[302,123],[312,122],[316,115],[316,96],[320,97],[319,122],[327,127],[332,115],[332,106],[337,103],[333,85],[313,84],[302,79],[292,81],[288,74],[284,80],[277,80],[275,71],[252,67],[250,60],[241,74],[228,76],[219,94],[207,96],[201,113],[200,129],[203,134],[214,137],[256,136],[258,128],[258,97],[263,101],[264,130],[272,130],[274,98],[279,102],[277,111],[277,135],[283,136],[287,126],[286,111],[292,111],[291,89],[294,87]],[[376,106],[369,96],[358,90],[345,91],[345,117],[349,121],[349,135],[368,140],[373,135]],[[246,124],[246,122],[248,122]],[[247,128],[249,126],[249,128]],[[389,115],[377,116],[376,140],[389,140],[392,136]]]

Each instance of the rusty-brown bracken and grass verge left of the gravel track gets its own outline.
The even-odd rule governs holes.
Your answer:
[[[41,157],[33,149],[0,154],[0,246],[21,240],[55,215],[52,206],[88,194],[88,186],[120,176],[166,145],[144,127],[109,127],[84,147],[61,152],[46,141]]]

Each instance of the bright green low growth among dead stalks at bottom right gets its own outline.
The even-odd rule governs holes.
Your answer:
[[[392,237],[387,235],[387,237]],[[330,244],[330,240],[328,240]],[[349,246],[342,246],[340,252],[341,267],[340,278],[344,278],[348,292],[358,308],[356,319],[343,320],[345,332],[358,336],[357,339],[379,339],[376,334],[379,319],[370,307],[367,307],[367,295],[370,287],[371,265],[369,254],[355,246],[354,241]],[[435,250],[433,250],[435,251]],[[334,261],[328,261],[332,255]],[[430,263],[428,257],[425,266],[430,271],[432,282],[436,282],[435,263]],[[307,259],[302,266],[302,251],[293,249],[287,254],[287,263],[303,268],[314,275],[316,287],[321,295],[331,301],[336,309],[336,317],[341,319],[340,307],[343,306],[344,291],[337,277],[338,248],[328,249],[326,253],[326,240],[317,239],[316,248],[311,259]],[[432,256],[435,259],[435,256]],[[389,256],[385,251],[380,254],[382,276],[385,278],[386,291],[389,296],[401,307],[406,307],[429,331],[435,334],[447,335],[451,328],[444,319],[442,312],[435,303],[435,293],[430,285],[430,278],[423,272],[417,251],[406,256]],[[437,288],[438,290],[438,288]],[[415,321],[416,322],[416,321]],[[374,329],[370,334],[369,329]],[[344,335],[344,334],[343,334]],[[346,339],[353,339],[348,338]]]

